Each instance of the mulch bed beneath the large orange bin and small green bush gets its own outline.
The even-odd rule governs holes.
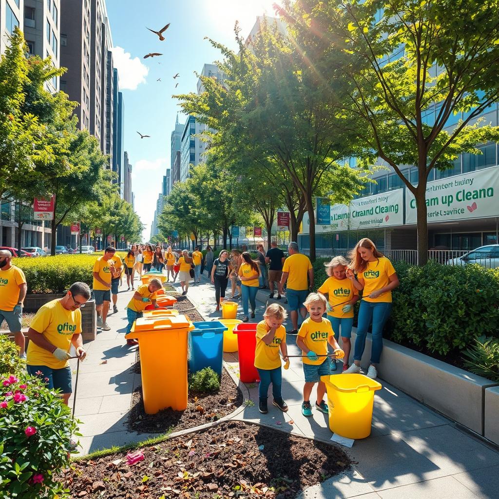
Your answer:
[[[128,413],[127,428],[138,433],[165,433],[194,428],[227,416],[243,403],[243,394],[227,372],[222,370],[220,390],[215,393],[197,393],[189,390],[185,411],[164,409],[157,414],[146,414],[142,401],[142,388],[137,388]]]

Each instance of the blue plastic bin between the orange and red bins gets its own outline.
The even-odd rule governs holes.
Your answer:
[[[194,329],[189,331],[188,364],[189,371],[195,373],[211,367],[222,378],[224,358],[224,324],[218,321],[193,322]]]

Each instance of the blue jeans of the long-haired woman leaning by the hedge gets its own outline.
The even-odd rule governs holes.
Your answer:
[[[387,301],[361,300],[357,319],[357,337],[355,338],[354,360],[361,360],[366,346],[366,335],[372,319],[371,363],[377,364],[383,350],[383,326],[390,317],[392,304]]]

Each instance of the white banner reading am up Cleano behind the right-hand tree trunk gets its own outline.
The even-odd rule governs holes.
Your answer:
[[[468,220],[499,215],[499,168],[428,182],[428,222]],[[406,191],[406,224],[417,223],[416,200]]]

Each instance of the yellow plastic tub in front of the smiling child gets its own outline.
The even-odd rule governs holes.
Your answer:
[[[371,434],[374,392],[381,384],[363,374],[322,376],[329,406],[329,429],[342,437],[361,439]]]

